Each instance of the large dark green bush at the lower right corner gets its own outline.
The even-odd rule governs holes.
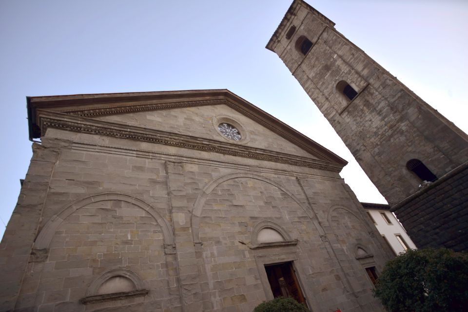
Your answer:
[[[389,312],[468,311],[468,254],[408,250],[387,263],[374,296]]]

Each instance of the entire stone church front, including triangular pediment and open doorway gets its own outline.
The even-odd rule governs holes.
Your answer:
[[[0,311],[383,311],[346,161],[227,90],[28,98]]]

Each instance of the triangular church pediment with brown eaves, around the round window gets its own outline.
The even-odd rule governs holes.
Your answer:
[[[66,121],[68,129],[78,132],[100,127],[111,129],[103,131],[109,135],[134,131],[138,136],[147,132],[147,137],[172,136],[184,142],[203,139],[212,151],[222,148],[220,152],[224,153],[227,148],[237,148],[240,154],[260,152],[271,154],[273,158],[274,155],[290,155],[298,157],[298,165],[302,160],[311,159],[328,169],[334,167],[333,171],[340,171],[347,164],[325,147],[228,90],[28,97],[28,117],[32,138],[40,137],[46,128],[56,127],[61,120]],[[217,133],[217,122],[242,127],[243,139],[230,142]],[[128,138],[137,139],[137,136]],[[195,145],[185,145],[195,148]],[[256,158],[262,157],[257,155]]]

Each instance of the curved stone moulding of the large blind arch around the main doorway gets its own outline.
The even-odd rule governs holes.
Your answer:
[[[228,180],[233,180],[233,179],[236,179],[236,178],[250,178],[250,179],[260,180],[260,181],[266,182],[268,184],[271,184],[273,186],[276,186],[281,191],[288,194],[288,196],[290,196],[292,198],[292,200],[294,202],[296,202],[299,205],[299,207],[301,207],[301,209],[304,210],[304,212],[307,214],[307,216],[313,221],[313,217],[312,217],[312,214],[310,212],[310,209],[308,209],[307,206],[305,206],[301,201],[299,201],[299,199],[297,197],[295,197],[294,194],[292,194],[290,191],[288,191],[282,185],[280,185],[280,184],[278,184],[278,183],[276,183],[276,182],[274,182],[274,181],[272,181],[270,179],[267,179],[265,177],[262,177],[262,176],[259,176],[259,175],[256,175],[256,174],[252,174],[252,173],[247,173],[247,172],[245,172],[245,173],[232,173],[232,174],[228,174],[228,175],[219,177],[219,178],[215,179],[213,182],[211,182],[210,184],[208,184],[207,186],[205,186],[202,193],[196,199],[195,204],[194,204],[193,217],[192,217],[192,233],[193,233],[193,238],[194,238],[195,243],[200,243],[200,233],[198,231],[198,226],[199,226],[199,222],[200,222],[201,212],[203,210],[203,206],[205,204],[206,199],[208,198],[210,193],[215,189],[216,186],[218,186],[219,184],[221,184],[223,182],[226,182]]]

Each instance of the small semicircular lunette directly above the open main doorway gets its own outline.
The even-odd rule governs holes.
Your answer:
[[[276,223],[262,221],[252,228],[252,248],[295,245],[288,232]]]

